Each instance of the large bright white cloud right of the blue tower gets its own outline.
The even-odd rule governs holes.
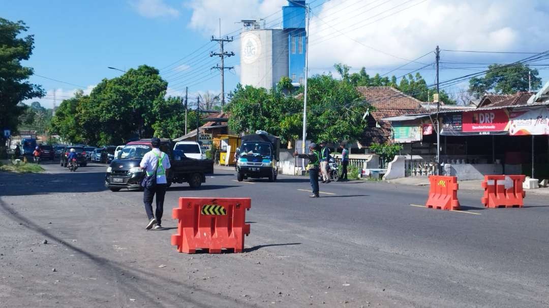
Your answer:
[[[394,66],[406,62],[399,58],[415,59],[436,45],[441,49],[543,51],[541,30],[549,26],[547,12],[514,0],[417,0],[393,10],[389,9],[395,3],[375,7],[365,2],[346,6],[344,2],[326,2],[311,19],[309,60],[313,67],[336,62],[353,67]],[[544,0],[531,2],[541,5]],[[389,16],[413,3],[420,4]],[[388,17],[380,19],[384,16]],[[442,53],[442,59],[460,56],[468,55]],[[422,62],[433,60],[434,55]]]

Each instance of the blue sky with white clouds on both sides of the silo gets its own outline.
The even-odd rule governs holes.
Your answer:
[[[378,0],[379,1],[379,0]],[[336,62],[366,66],[373,75],[386,73],[409,60],[442,49],[542,52],[547,48],[549,5],[544,0],[307,0],[311,19],[311,73],[328,72]],[[376,3],[378,2],[378,3]],[[268,16],[277,27],[284,0],[122,0],[122,1],[7,1],[0,16],[24,20],[35,35],[35,50],[25,65],[37,75],[31,82],[47,90],[43,105],[51,107],[53,93],[68,98],[75,89],[87,92],[102,78],[141,64],[163,68],[169,93],[181,94],[191,85],[191,95],[209,90],[219,93],[219,76],[211,71],[217,58],[210,50],[217,45],[211,35],[237,36],[241,19]],[[368,6],[369,5],[369,6]],[[530,22],[529,22],[530,21]],[[239,41],[227,45],[237,55],[227,59],[236,70],[227,72],[226,92],[238,82]],[[202,47],[201,49],[199,49]],[[197,50],[198,49],[198,50]],[[191,54],[191,56],[188,56]],[[442,52],[445,64],[441,81],[481,71],[484,64],[508,63],[529,54],[473,54]],[[418,62],[429,64],[434,54]],[[463,63],[461,63],[463,62]],[[466,64],[471,63],[482,63]],[[537,62],[543,64],[546,62]],[[404,75],[423,65],[411,63],[390,75]],[[459,67],[451,69],[450,67]],[[549,80],[545,66],[540,76]],[[428,83],[434,81],[433,66],[420,71]],[[463,91],[466,82],[446,89]],[[60,102],[60,101],[59,101]],[[58,102],[58,104],[59,104]]]

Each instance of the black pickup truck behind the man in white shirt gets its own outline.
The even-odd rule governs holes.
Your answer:
[[[206,174],[214,173],[214,161],[211,159],[188,158],[183,151],[172,150],[170,139],[160,140],[160,150],[167,153],[171,168],[167,170],[167,184],[188,182],[189,186],[198,189],[206,181]],[[110,163],[105,174],[105,187],[111,191],[141,189],[145,171],[139,169],[139,163],[145,153],[152,150],[150,139],[132,141],[118,153]]]

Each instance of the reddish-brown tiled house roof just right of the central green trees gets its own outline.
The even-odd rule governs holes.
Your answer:
[[[362,98],[376,108],[368,116],[368,127],[365,129],[361,144],[369,146],[373,142],[390,141],[391,125],[383,118],[426,113],[422,101],[404,94],[391,87],[357,87]]]

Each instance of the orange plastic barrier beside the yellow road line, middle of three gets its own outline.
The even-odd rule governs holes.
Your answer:
[[[456,176],[430,175],[429,183],[429,198],[425,207],[444,210],[460,209]]]

